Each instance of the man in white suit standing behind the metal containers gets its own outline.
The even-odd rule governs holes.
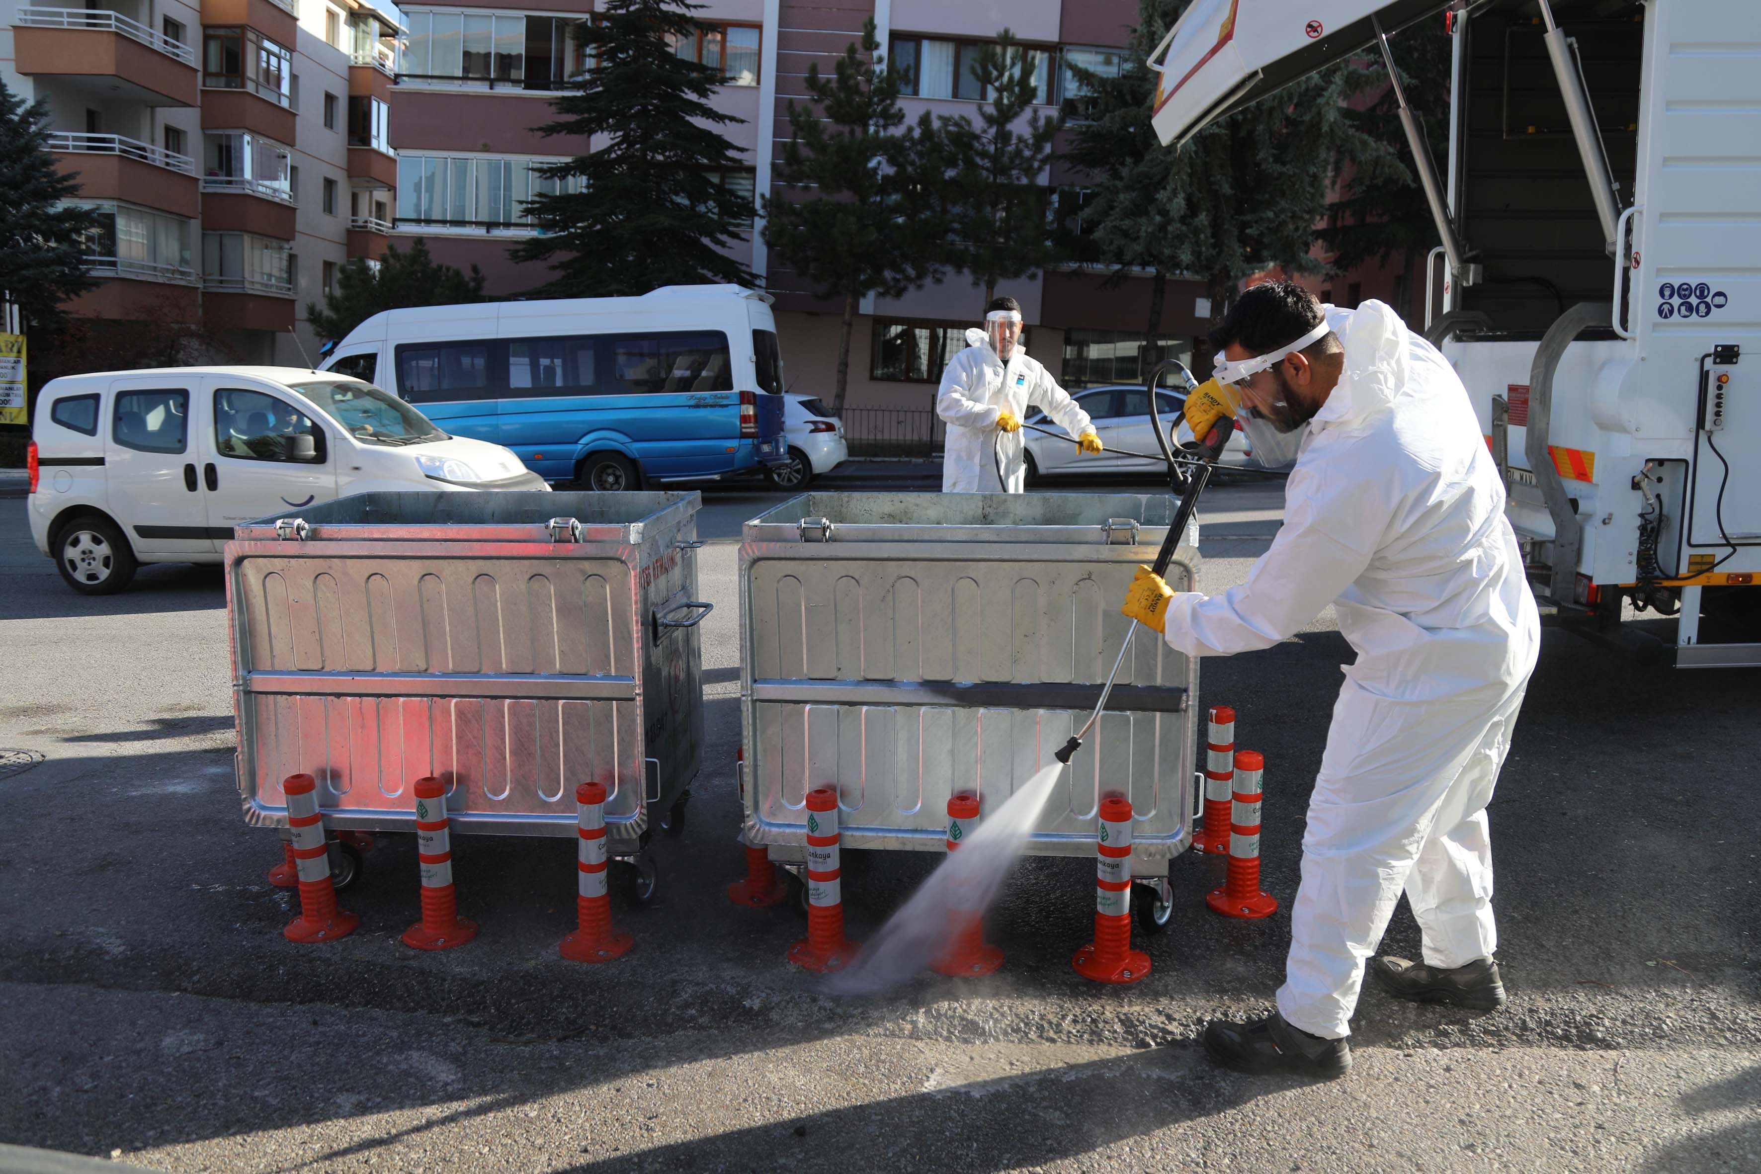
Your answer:
[[[1021,493],[1027,486],[1021,417],[1028,407],[1050,415],[1083,452],[1101,452],[1088,414],[1020,341],[1021,305],[997,297],[984,312],[984,329],[967,331],[967,349],[942,371],[935,396],[935,414],[947,424],[942,493]]]

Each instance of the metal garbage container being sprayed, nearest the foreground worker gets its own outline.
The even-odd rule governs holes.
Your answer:
[[[947,799],[991,811],[1101,697],[1120,600],[1176,502],[1157,495],[807,493],[745,525],[745,834],[798,866],[807,792],[835,785],[852,848],[944,850]],[[1196,526],[1168,572],[1190,590]],[[1139,628],[1106,713],[1032,834],[1094,855],[1097,811],[1136,811],[1132,875],[1192,841],[1197,662]],[[1166,880],[1159,885],[1166,898]]]

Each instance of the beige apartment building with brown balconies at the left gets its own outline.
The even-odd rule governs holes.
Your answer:
[[[317,356],[306,303],[391,239],[400,35],[366,0],[0,0],[0,77],[48,100],[100,215],[100,285],[70,310],[199,324],[229,361]]]

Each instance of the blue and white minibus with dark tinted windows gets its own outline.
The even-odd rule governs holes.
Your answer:
[[[662,285],[386,310],[324,368],[394,391],[449,433],[507,445],[551,482],[608,493],[759,479],[789,461],[770,305],[740,285]]]

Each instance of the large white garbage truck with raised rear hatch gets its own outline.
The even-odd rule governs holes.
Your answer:
[[[1389,51],[1418,21],[1453,44],[1440,167]],[[1543,614],[1761,665],[1761,4],[1194,0],[1150,58],[1157,136],[1345,58],[1389,74],[1442,241],[1425,333]]]

